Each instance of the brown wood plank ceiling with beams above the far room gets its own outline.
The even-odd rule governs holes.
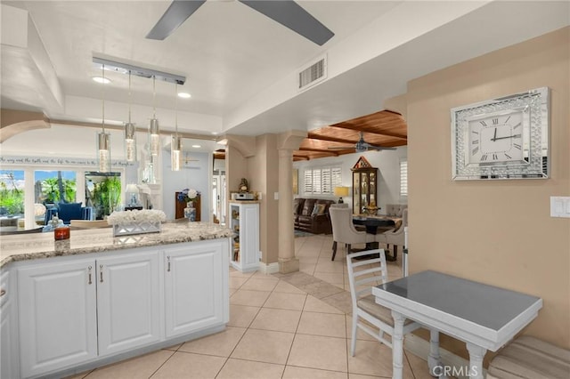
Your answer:
[[[397,147],[408,144],[408,125],[402,115],[381,110],[338,124],[314,129],[293,152],[293,161],[319,157],[338,157],[354,153],[354,145],[364,133],[364,141],[373,146]],[[341,148],[346,149],[329,149]]]

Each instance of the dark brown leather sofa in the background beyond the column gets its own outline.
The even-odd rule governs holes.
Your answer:
[[[331,234],[329,207],[334,200],[322,198],[293,199],[293,220],[295,229],[313,234]]]

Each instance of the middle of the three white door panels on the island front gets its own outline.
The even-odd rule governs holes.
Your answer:
[[[97,259],[99,355],[160,340],[159,254]]]

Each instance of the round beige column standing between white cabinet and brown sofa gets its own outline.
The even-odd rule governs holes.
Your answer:
[[[279,272],[299,270],[293,232],[293,150],[279,149]]]

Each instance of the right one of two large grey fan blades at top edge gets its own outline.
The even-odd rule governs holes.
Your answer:
[[[240,0],[240,2],[320,46],[335,35],[293,0]]]

